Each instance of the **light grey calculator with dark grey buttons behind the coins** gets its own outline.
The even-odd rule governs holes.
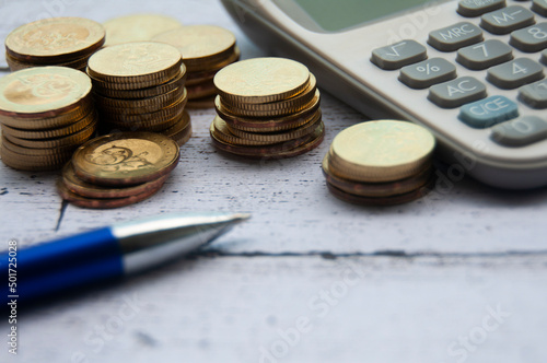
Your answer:
[[[222,2],[366,117],[431,130],[452,180],[547,185],[547,0]]]

